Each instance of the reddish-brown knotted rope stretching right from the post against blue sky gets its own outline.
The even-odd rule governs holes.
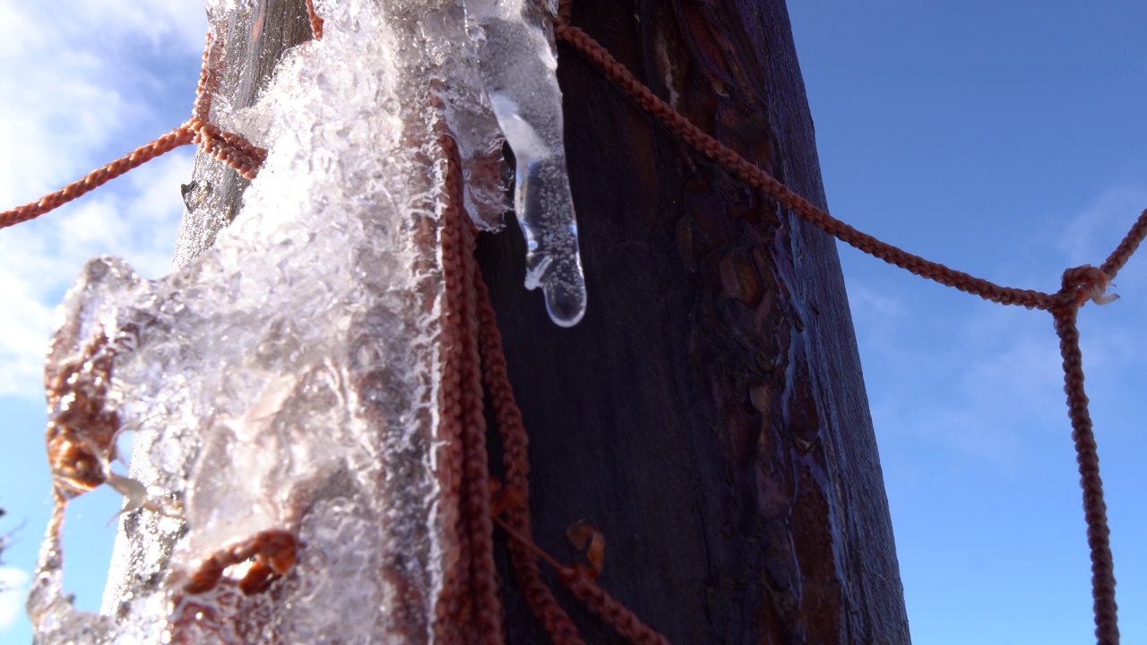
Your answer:
[[[1110,530],[1107,526],[1107,505],[1103,502],[1103,484],[1099,476],[1099,456],[1087,411],[1087,396],[1083,387],[1083,358],[1079,351],[1079,333],[1076,317],[1079,308],[1089,300],[1100,304],[1109,302],[1105,289],[1128,258],[1147,236],[1147,210],[1131,226],[1115,251],[1095,269],[1079,266],[1063,272],[1063,288],[1056,294],[1031,289],[1002,287],[955,271],[920,256],[906,252],[882,242],[817,208],[803,196],[789,189],[759,166],[720,143],[700,127],[686,119],[669,103],[662,101],[647,86],[614,59],[604,47],[580,29],[569,24],[570,0],[562,0],[554,21],[554,34],[569,42],[588,59],[609,79],[624,90],[646,112],[664,127],[684,140],[696,151],[736,174],[747,184],[772,196],[781,205],[836,239],[861,251],[895,264],[916,275],[954,287],[1000,304],[1019,304],[1028,309],[1052,312],[1060,351],[1063,356],[1064,393],[1068,398],[1068,415],[1071,420],[1076,458],[1079,464],[1083,488],[1084,518],[1087,522],[1087,544],[1092,560],[1092,597],[1094,600],[1095,637],[1100,645],[1115,645],[1119,640],[1117,607],[1115,603],[1115,573],[1110,549]]]

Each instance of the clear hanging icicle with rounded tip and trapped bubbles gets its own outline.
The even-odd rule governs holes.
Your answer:
[[[565,170],[552,14],[537,0],[465,3],[490,106],[514,150],[514,210],[525,236],[525,287],[541,287],[551,319],[571,327],[585,316],[586,292]]]

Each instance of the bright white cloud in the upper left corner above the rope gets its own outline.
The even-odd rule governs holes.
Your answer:
[[[150,41],[156,52],[182,54],[196,65],[206,21],[202,3],[182,0],[69,6],[0,0],[8,25],[0,42],[0,204],[26,203],[111,161],[125,129],[148,114],[139,84],[153,73],[147,56],[124,48]],[[197,65],[196,65],[197,67]],[[125,93],[126,92],[126,93]],[[170,126],[174,126],[171,123]],[[150,132],[153,137],[158,132]],[[145,139],[146,140],[146,139]]]

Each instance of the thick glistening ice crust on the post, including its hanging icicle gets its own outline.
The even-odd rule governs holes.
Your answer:
[[[233,1],[209,2],[213,25]],[[49,534],[29,599],[37,643],[432,642],[458,553],[438,471],[439,118],[485,228],[504,209],[505,132],[528,285],[557,324],[584,313],[544,11],[521,0],[317,9],[323,40],[288,53],[255,108],[217,106],[270,151],[236,222],[161,280],[95,258],[60,308],[56,342],[75,351],[54,359],[101,333],[130,337],[107,405],[136,432],[128,475],[167,514],[122,518],[101,615],[64,597]],[[297,534],[290,575],[251,597],[181,592],[197,558],[265,529]]]

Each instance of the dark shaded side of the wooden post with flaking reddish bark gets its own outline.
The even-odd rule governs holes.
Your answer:
[[[577,0],[572,23],[825,205],[781,0]],[[565,528],[596,524],[599,582],[674,643],[907,643],[834,242],[559,49],[585,319],[559,328],[523,290],[516,230],[479,242],[530,430],[537,542],[577,560]],[[559,597],[587,642],[617,640]],[[507,619],[512,643],[545,642],[514,591]]]

